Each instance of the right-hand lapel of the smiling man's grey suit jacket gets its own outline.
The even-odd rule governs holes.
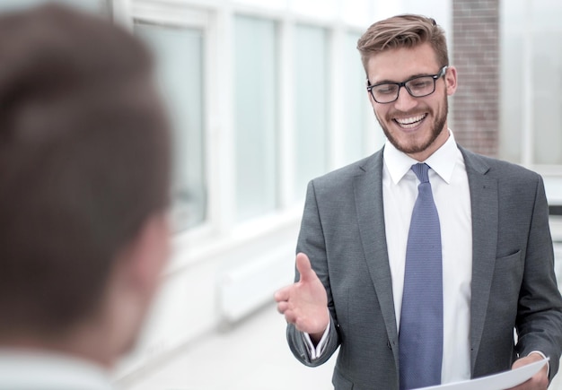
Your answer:
[[[496,178],[478,155],[461,148],[467,169],[472,208],[472,297],[470,300],[470,370],[479,353],[487,303],[496,263],[498,188]]]

